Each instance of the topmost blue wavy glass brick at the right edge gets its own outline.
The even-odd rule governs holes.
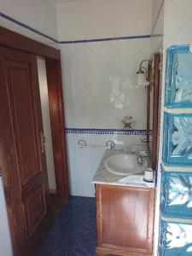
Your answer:
[[[166,52],[166,107],[192,108],[192,53],[189,45]]]

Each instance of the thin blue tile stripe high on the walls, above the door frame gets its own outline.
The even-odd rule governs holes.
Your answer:
[[[136,36],[125,36],[125,37],[119,37],[119,38],[95,38],[95,39],[82,39],[82,40],[70,40],[70,41],[58,41],[55,38],[52,38],[46,34],[44,34],[43,32],[39,32],[37,29],[32,28],[32,26],[28,26],[25,23],[19,21],[19,20],[15,20],[14,18],[12,18],[9,15],[5,15],[3,13],[0,13],[0,17],[12,21],[15,24],[22,26],[32,32],[37,33],[39,36],[42,36],[44,38],[47,38],[57,44],[82,44],[82,43],[91,43],[91,42],[102,42],[102,41],[114,41],[114,40],[130,40],[130,39],[141,39],[141,38],[150,38],[150,35],[136,35]],[[159,35],[157,35],[159,36]]]

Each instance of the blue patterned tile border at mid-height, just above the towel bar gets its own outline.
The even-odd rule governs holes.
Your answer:
[[[79,128],[66,128],[67,134],[122,134],[122,135],[146,135],[146,130],[125,130],[125,129],[79,129]],[[152,131],[150,131],[152,134]]]

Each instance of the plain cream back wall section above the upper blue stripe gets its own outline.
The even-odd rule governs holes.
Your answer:
[[[62,2],[62,1],[61,1]],[[59,40],[150,34],[152,0],[80,0],[57,4]]]

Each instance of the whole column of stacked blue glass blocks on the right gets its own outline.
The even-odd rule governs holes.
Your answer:
[[[192,53],[166,52],[159,256],[192,255]]]

